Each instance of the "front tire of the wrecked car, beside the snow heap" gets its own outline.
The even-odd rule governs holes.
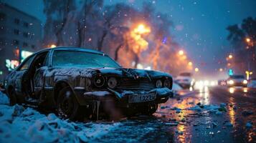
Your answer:
[[[80,104],[75,98],[74,92],[70,87],[65,87],[60,90],[57,97],[57,115],[62,119],[80,120],[82,114],[80,114]]]

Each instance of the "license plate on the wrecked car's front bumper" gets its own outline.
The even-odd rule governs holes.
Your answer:
[[[149,102],[156,99],[156,94],[133,94],[129,97],[129,103]]]

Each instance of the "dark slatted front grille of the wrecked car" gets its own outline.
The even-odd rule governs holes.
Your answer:
[[[120,79],[117,89],[150,91],[155,84],[150,79]]]

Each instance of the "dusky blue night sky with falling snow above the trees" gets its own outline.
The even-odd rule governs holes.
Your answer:
[[[28,14],[44,24],[42,0],[0,0]],[[141,0],[105,0],[105,5],[125,2],[141,9]],[[225,60],[232,52],[227,41],[226,27],[240,24],[248,16],[256,17],[255,0],[158,0],[150,1],[156,11],[168,14],[174,22],[171,33],[202,71],[224,68],[217,61]],[[206,63],[207,65],[202,65]]]

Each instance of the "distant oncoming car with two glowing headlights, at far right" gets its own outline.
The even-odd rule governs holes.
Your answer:
[[[247,87],[247,80],[245,79],[244,75],[232,75],[227,79],[227,86],[228,87]]]

